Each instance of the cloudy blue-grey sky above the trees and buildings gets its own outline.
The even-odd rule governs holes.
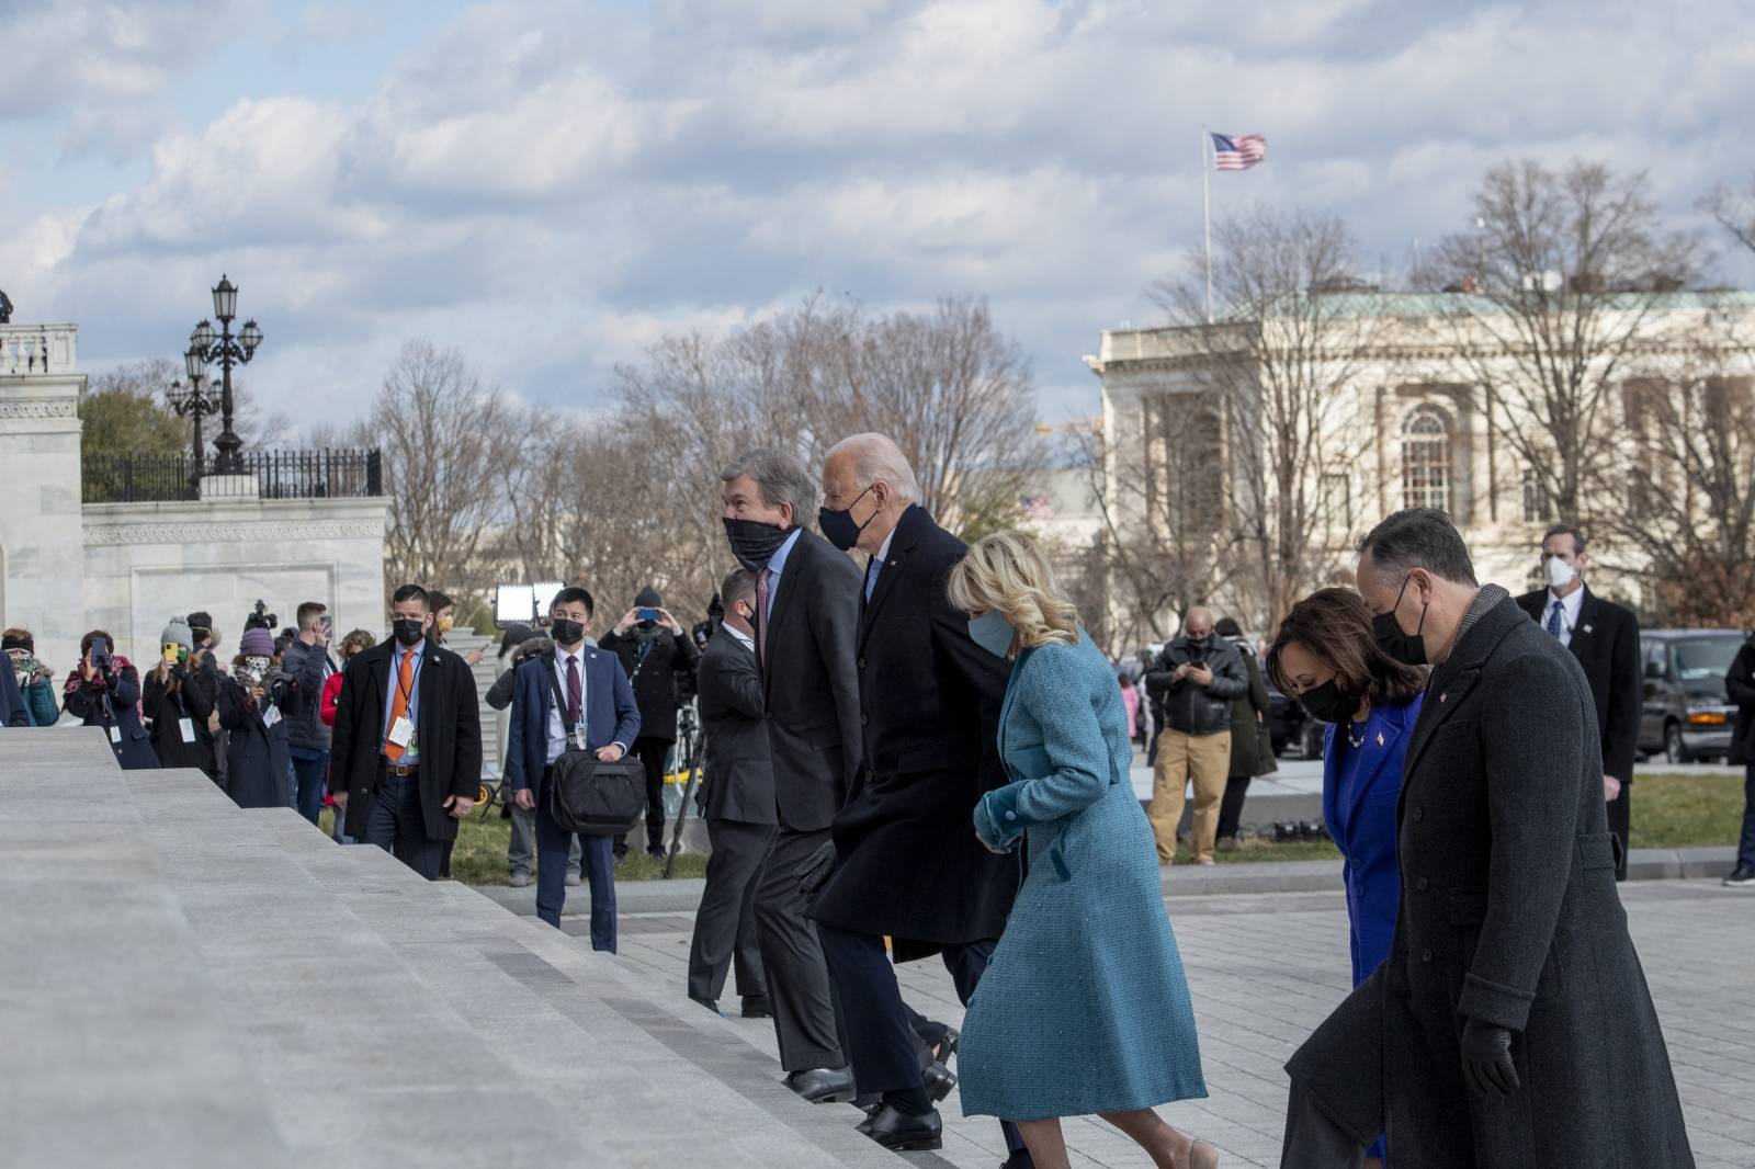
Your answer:
[[[269,409],[349,420],[405,337],[590,409],[667,330],[813,290],[986,297],[1051,420],[1153,319],[1213,177],[1374,262],[1488,165],[1648,169],[1680,226],[1755,172],[1746,0],[0,0],[0,288],[95,372],[181,355],[221,270]],[[1716,239],[1713,239],[1718,244]],[[1722,270],[1748,265],[1720,246]]]

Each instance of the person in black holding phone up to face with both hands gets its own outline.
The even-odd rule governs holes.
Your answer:
[[[663,767],[676,746],[679,681],[693,686],[700,651],[651,584],[634,597],[634,607],[600,644],[621,658],[641,706],[641,737],[632,755],[646,767],[646,851],[663,860]],[[616,837],[616,857],[625,851],[627,837]]]

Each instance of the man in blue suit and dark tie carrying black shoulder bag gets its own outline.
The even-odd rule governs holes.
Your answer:
[[[569,734],[584,725],[584,749],[605,764],[628,753],[641,732],[641,711],[621,662],[584,644],[591,627],[590,593],[563,588],[549,606],[555,648],[523,665],[512,681],[511,742],[505,783],[518,807],[535,809],[537,916],[560,929],[567,904],[567,851],[574,834],[549,811],[555,760]],[[556,686],[562,690],[556,692]],[[607,836],[581,836],[591,885],[591,948],[616,951],[616,860]]]

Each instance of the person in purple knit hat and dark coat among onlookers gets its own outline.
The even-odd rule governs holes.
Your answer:
[[[251,625],[239,639],[232,674],[219,681],[219,725],[226,728],[226,795],[239,807],[288,807],[293,764],[286,720],[297,716],[298,683],[281,669],[274,634]]]

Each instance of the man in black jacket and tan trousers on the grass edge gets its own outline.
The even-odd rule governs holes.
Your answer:
[[[1176,860],[1176,825],[1183,818],[1188,781],[1195,785],[1190,830],[1195,864],[1213,864],[1218,813],[1230,778],[1230,704],[1250,692],[1237,646],[1213,634],[1213,611],[1195,607],[1183,620],[1183,635],[1164,648],[1146,693],[1162,704],[1164,730],[1151,769],[1151,834],[1158,864]]]

